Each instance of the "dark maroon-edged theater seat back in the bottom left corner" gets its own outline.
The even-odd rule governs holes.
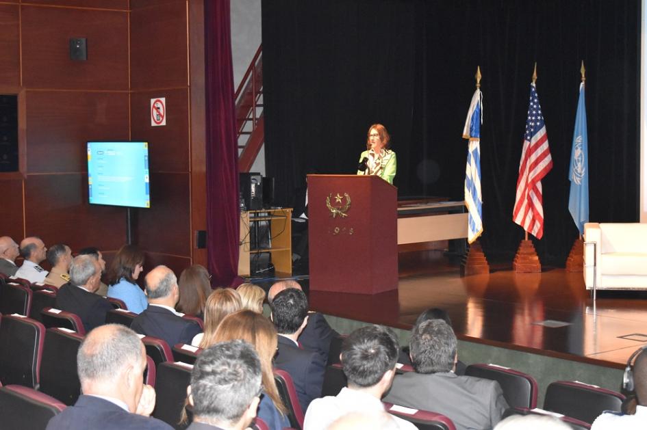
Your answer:
[[[0,388],[0,427],[3,429],[45,429],[47,422],[65,405],[53,397],[23,386]]]

